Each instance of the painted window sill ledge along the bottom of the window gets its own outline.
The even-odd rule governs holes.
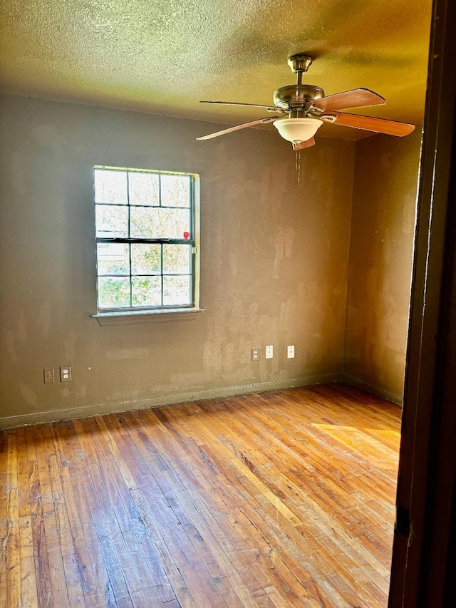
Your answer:
[[[171,321],[196,321],[204,308],[169,308],[160,310],[126,310],[99,312],[93,319],[103,325],[137,325],[140,323],[170,323]]]

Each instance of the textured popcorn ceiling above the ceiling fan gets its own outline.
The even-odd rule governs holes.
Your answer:
[[[326,95],[371,88],[387,104],[357,113],[418,124],[430,11],[430,0],[2,0],[1,91],[232,125],[264,112],[198,101],[271,104],[295,82],[287,57],[306,52],[304,82]]]

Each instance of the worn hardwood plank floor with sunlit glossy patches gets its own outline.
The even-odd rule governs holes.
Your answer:
[[[3,431],[0,605],[386,607],[399,434],[343,385]]]

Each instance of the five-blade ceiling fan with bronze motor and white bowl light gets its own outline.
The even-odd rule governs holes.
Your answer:
[[[415,129],[415,125],[398,123],[395,120],[340,112],[339,110],[382,105],[386,102],[378,93],[374,93],[368,88],[355,88],[353,91],[343,91],[343,93],[325,96],[323,89],[319,86],[303,84],[302,75],[309,69],[312,61],[311,57],[302,53],[293,55],[288,59],[291,71],[297,75],[297,81],[295,85],[283,86],[274,92],[274,106],[230,101],[202,101],[201,103],[265,108],[266,111],[279,115],[266,116],[266,118],[259,118],[259,120],[252,120],[249,123],[209,133],[209,135],[202,135],[197,140],[217,138],[219,135],[226,135],[239,129],[273,123],[280,135],[292,143],[294,150],[302,150],[315,144],[314,135],[323,122],[373,131],[374,133],[396,135],[397,137],[409,135]]]

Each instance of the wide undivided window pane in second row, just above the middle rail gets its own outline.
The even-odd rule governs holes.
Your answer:
[[[190,232],[187,209],[131,207],[130,236],[145,239],[183,239]]]

